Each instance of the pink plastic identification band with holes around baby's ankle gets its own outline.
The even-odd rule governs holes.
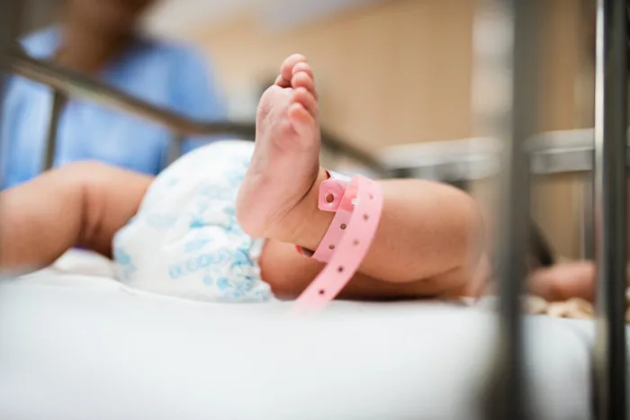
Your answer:
[[[330,174],[329,174],[330,175]],[[305,256],[327,263],[293,304],[293,312],[312,312],[335,299],[355,275],[372,245],[383,210],[381,186],[355,175],[350,183],[329,177],[320,184],[318,207],[336,212],[314,253]]]

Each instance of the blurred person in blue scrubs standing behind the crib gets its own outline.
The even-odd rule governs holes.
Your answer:
[[[206,58],[192,49],[139,33],[139,19],[154,0],[65,0],[58,26],[22,40],[34,58],[94,76],[143,101],[217,121],[226,107]],[[0,139],[3,184],[8,187],[40,173],[53,94],[44,85],[18,76],[4,94]],[[124,112],[69,98],[58,122],[54,165],[94,159],[143,174],[157,174],[166,163],[173,134],[156,123]],[[203,144],[184,141],[183,152]]]

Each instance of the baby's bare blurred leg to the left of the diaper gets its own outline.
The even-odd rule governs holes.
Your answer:
[[[0,270],[37,270],[73,246],[111,256],[113,235],[136,213],[151,180],[85,162],[0,192]]]

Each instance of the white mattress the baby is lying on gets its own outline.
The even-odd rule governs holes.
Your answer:
[[[97,275],[4,281],[0,418],[482,418],[490,313],[339,301],[295,320],[286,309],[136,294]],[[591,418],[591,327],[527,318],[538,418]]]

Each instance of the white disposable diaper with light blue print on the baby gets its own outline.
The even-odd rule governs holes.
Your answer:
[[[180,157],[148,188],[138,213],[113,238],[117,275],[131,288],[186,299],[262,302],[264,239],[236,219],[236,197],[254,150],[220,141]]]

